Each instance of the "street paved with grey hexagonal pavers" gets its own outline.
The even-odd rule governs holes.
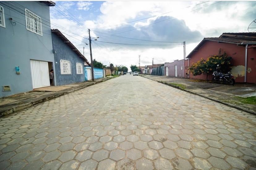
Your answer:
[[[0,169],[255,169],[256,117],[124,75],[0,118]]]

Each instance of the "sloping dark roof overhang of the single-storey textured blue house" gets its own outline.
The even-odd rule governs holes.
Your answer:
[[[84,62],[86,62],[88,65],[90,63],[88,60],[79,52],[79,50],[59,31],[58,29],[52,29],[52,32],[56,34],[60,39],[62,39],[63,43],[67,44],[81,59],[83,59]]]

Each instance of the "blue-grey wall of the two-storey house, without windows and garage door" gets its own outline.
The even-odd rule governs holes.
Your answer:
[[[25,8],[41,17],[42,22],[50,23],[49,6],[36,1],[15,1],[13,8]],[[54,63],[52,36],[50,26],[42,24],[43,36],[26,29],[25,15],[0,4],[4,8],[5,28],[0,27],[0,97],[31,91],[32,77],[30,60]],[[16,25],[12,26],[13,18]],[[19,66],[20,74],[16,74]],[[53,64],[53,69],[55,66]],[[54,80],[55,81],[55,80]],[[56,83],[56,81],[55,81]],[[11,91],[2,92],[2,85],[11,85]]]

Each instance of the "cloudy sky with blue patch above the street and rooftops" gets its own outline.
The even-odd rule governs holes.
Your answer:
[[[183,59],[204,37],[247,32],[256,19],[255,1],[56,1],[51,25],[90,60],[141,66]],[[136,45],[134,45],[136,44]]]

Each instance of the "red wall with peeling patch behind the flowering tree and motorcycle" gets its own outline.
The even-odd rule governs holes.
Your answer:
[[[193,63],[196,63],[201,58],[207,60],[211,55],[218,55],[219,49],[222,49],[222,52],[226,52],[228,56],[232,56],[232,70],[231,74],[236,79],[236,82],[244,82],[245,79],[245,46],[231,44],[231,43],[218,43],[215,41],[206,41],[206,43],[190,58],[190,66]],[[254,58],[251,60],[250,58]],[[247,82],[256,83],[256,50],[254,48],[248,49],[247,55]],[[250,68],[250,69],[249,69]],[[206,75],[202,74],[200,76],[193,76],[190,73],[190,78],[197,79],[206,79]],[[208,76],[208,79],[211,80],[212,75]]]

